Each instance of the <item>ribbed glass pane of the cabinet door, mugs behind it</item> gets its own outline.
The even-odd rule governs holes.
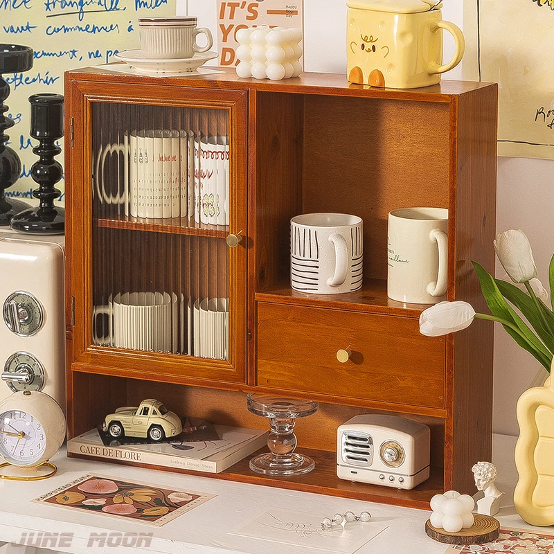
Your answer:
[[[91,105],[92,341],[228,360],[229,109]]]

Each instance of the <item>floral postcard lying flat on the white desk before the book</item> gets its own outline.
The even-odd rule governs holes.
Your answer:
[[[42,494],[34,502],[124,517],[161,527],[214,497],[215,494],[160,488],[158,485],[129,483],[114,477],[88,474]]]

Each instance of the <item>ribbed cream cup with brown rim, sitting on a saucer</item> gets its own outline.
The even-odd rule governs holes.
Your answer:
[[[150,60],[182,60],[213,46],[208,28],[197,28],[197,17],[141,17],[141,49]],[[198,46],[196,37],[206,35],[206,46]]]

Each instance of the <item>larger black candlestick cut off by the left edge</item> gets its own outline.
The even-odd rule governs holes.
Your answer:
[[[16,183],[21,174],[21,160],[17,152],[6,146],[10,138],[5,131],[14,120],[6,114],[4,101],[10,96],[10,85],[3,79],[6,73],[23,73],[33,67],[33,48],[19,44],[0,44],[0,225],[9,225],[12,217],[30,208],[27,202],[6,198],[6,188]]]

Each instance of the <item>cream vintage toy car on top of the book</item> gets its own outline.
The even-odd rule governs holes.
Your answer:
[[[157,400],[143,400],[137,408],[125,406],[106,416],[104,431],[113,438],[140,437],[159,443],[164,438],[181,434],[183,424],[179,416],[168,411]]]

